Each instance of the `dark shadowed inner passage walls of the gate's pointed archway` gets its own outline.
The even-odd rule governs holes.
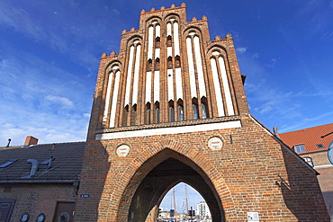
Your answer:
[[[154,164],[157,161],[159,164]],[[213,222],[225,221],[220,196],[208,175],[191,159],[168,148],[150,157],[128,183],[126,191],[132,193],[126,192],[120,204],[121,209],[128,210],[127,221],[157,221],[159,205],[179,182],[191,185],[202,195]]]

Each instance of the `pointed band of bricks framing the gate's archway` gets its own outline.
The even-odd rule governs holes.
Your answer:
[[[227,209],[234,209],[234,201],[232,200],[231,192],[224,182],[223,177],[220,175],[218,170],[211,165],[207,158],[202,157],[202,154],[200,154],[199,151],[200,150],[195,147],[191,147],[191,149],[189,149],[188,147],[184,146],[184,144],[173,139],[162,140],[149,146],[147,149],[143,149],[138,157],[136,157],[128,165],[127,170],[122,174],[120,182],[123,185],[120,186],[121,189],[113,193],[112,198],[119,200],[119,209],[117,212],[128,211],[130,208],[130,201],[125,204],[123,204],[121,201],[131,200],[135,194],[135,191],[139,187],[140,182],[147,176],[147,174],[153,170],[157,164],[162,163],[169,157],[174,157],[177,160],[182,161],[184,164],[189,165],[196,172],[198,172],[204,180],[210,180],[211,182],[208,183],[212,183],[213,185],[211,189],[220,193],[219,198],[222,202],[222,205],[229,206]],[[179,156],[184,157],[182,158]],[[136,182],[130,184],[130,181]],[[112,207],[111,204],[109,206],[109,208]],[[233,215],[235,213],[236,211],[228,212],[229,215]],[[109,215],[109,217],[112,216]],[[116,215],[116,218],[117,221],[125,221],[127,219],[127,215],[118,214]]]

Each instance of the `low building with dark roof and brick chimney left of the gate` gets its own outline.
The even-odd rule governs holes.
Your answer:
[[[0,147],[1,222],[73,221],[85,142],[37,141]]]

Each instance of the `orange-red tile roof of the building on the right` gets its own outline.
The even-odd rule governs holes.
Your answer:
[[[284,141],[288,147],[293,148],[295,145],[304,145],[305,152],[327,150],[329,144],[333,141],[333,133],[321,138],[329,133],[333,132],[333,123],[322,125],[314,128],[300,129],[292,132],[280,134],[280,138]],[[324,148],[319,148],[317,144],[322,144]]]

